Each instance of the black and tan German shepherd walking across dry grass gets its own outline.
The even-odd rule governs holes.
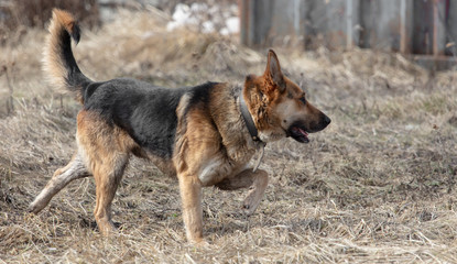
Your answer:
[[[77,150],[57,169],[30,205],[40,212],[75,179],[94,176],[95,219],[105,235],[113,232],[111,202],[131,155],[152,161],[177,176],[187,240],[203,242],[202,188],[249,188],[242,204],[254,212],[268,184],[268,173],[249,162],[265,143],[291,136],[307,143],[330,119],[306,100],[305,92],[281,72],[273,51],[261,76],[248,75],[242,86],[206,82],[166,89],[117,78],[94,81],[80,70],[72,52],[79,41],[74,16],[55,9],[48,28],[43,68],[56,88],[76,95]]]

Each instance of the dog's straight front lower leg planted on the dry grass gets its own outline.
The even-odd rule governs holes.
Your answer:
[[[186,174],[178,175],[178,179],[187,240],[195,243],[204,242],[202,184],[197,177]]]

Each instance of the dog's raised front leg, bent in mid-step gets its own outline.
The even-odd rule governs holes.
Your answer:
[[[255,211],[262,200],[268,183],[269,176],[265,170],[258,169],[254,173],[252,169],[244,169],[233,177],[222,179],[216,187],[222,190],[236,190],[249,187],[249,193],[242,204],[242,209],[250,216]]]

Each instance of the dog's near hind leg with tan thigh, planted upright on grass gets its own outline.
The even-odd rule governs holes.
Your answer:
[[[115,228],[111,202],[135,143],[124,131],[107,123],[97,112],[83,110],[77,121],[78,145],[86,154],[96,184],[95,220],[100,233],[109,235]]]

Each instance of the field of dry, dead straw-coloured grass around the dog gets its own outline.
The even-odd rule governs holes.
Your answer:
[[[153,10],[121,12],[86,30],[75,56],[93,79],[167,87],[263,72],[265,51],[166,32],[165,23]],[[309,144],[268,145],[261,167],[270,185],[254,216],[240,215],[246,191],[205,189],[209,245],[195,248],[185,240],[176,180],[139,160],[115,199],[112,238],[97,231],[91,178],[70,184],[39,216],[26,212],[70,158],[79,109],[43,80],[44,35],[29,30],[0,46],[0,263],[457,263],[455,70],[429,74],[371,51],[276,48],[333,123]]]

